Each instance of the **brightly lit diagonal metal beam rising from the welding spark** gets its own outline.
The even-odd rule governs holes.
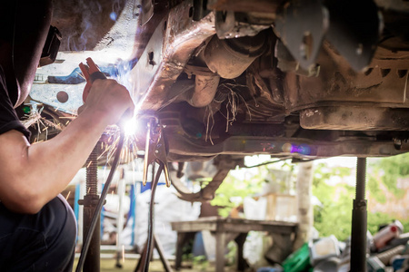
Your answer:
[[[195,49],[215,34],[214,14],[193,20],[194,1],[175,6],[156,28],[131,71],[132,95],[139,111],[165,106],[167,91]]]

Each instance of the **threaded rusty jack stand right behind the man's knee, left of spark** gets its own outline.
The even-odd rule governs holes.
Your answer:
[[[97,194],[98,146],[99,141],[96,143],[94,150],[86,160],[86,195],[84,196],[84,200],[78,200],[79,205],[84,205],[83,240],[89,231],[91,220],[93,219],[95,208],[99,200],[99,196]],[[88,253],[85,257],[84,272],[94,272],[100,270],[100,225],[100,219],[98,218],[93,238],[91,239]]]

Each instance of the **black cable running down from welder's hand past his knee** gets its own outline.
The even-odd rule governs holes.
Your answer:
[[[122,148],[124,147],[124,141],[125,141],[125,131],[121,129],[118,145],[117,145],[116,151],[115,151],[114,162],[113,162],[113,165],[111,167],[111,170],[109,171],[108,178],[106,179],[104,189],[103,189],[103,191],[101,193],[101,198],[99,199],[98,204],[96,205],[95,214],[93,216],[93,219],[91,220],[91,224],[90,224],[90,227],[88,229],[88,233],[85,236],[85,241],[83,243],[83,248],[81,249],[81,255],[79,257],[78,264],[76,266],[75,272],[81,272],[81,270],[84,267],[85,257],[86,257],[89,245],[91,243],[91,238],[93,237],[93,234],[94,234],[94,229],[95,229],[95,226],[96,226],[96,222],[99,219],[98,216],[99,216],[99,214],[101,214],[101,210],[102,210],[102,207],[104,205],[106,195],[108,194],[109,185],[111,184],[111,181],[112,181],[112,179],[114,177],[116,167],[119,164],[119,158],[121,156]]]

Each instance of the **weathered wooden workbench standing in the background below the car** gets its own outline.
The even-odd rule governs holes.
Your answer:
[[[234,241],[237,243],[237,270],[244,271],[245,260],[243,257],[243,245],[249,231],[264,231],[280,234],[291,240],[295,234],[297,224],[282,221],[264,221],[247,219],[223,219],[219,217],[201,218],[195,221],[172,222],[172,229],[177,231],[175,269],[182,265],[182,248],[186,238],[193,237],[196,232],[209,230],[214,232],[216,241],[216,263],[215,271],[224,271],[224,249],[226,247],[226,236],[234,234]],[[287,245],[291,247],[292,245]]]

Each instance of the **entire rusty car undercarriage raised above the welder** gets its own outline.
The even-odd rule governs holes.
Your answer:
[[[36,141],[75,116],[85,85],[77,65],[91,56],[132,93],[138,121],[163,126],[168,161],[409,149],[407,1],[66,5],[55,1],[55,63],[37,70],[26,101],[58,123],[35,127]],[[142,131],[135,146],[144,151]]]

